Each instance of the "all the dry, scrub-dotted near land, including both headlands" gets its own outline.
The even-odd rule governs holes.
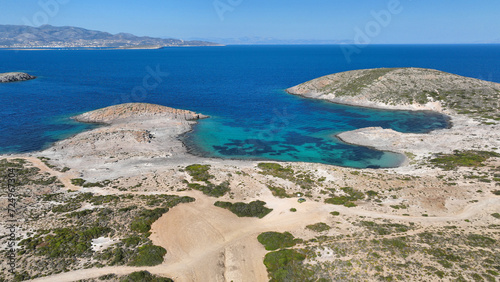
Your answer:
[[[432,87],[418,92],[424,84]],[[408,95],[396,101],[391,89]],[[204,116],[188,111],[125,104],[85,114],[107,125],[0,160],[2,177],[16,168],[23,219],[17,273],[2,261],[1,279],[497,281],[499,89],[434,70],[382,69],[288,90],[451,117],[451,129],[429,134],[340,136],[408,157],[380,170],[191,156],[177,136]],[[5,182],[1,191],[6,207]]]

